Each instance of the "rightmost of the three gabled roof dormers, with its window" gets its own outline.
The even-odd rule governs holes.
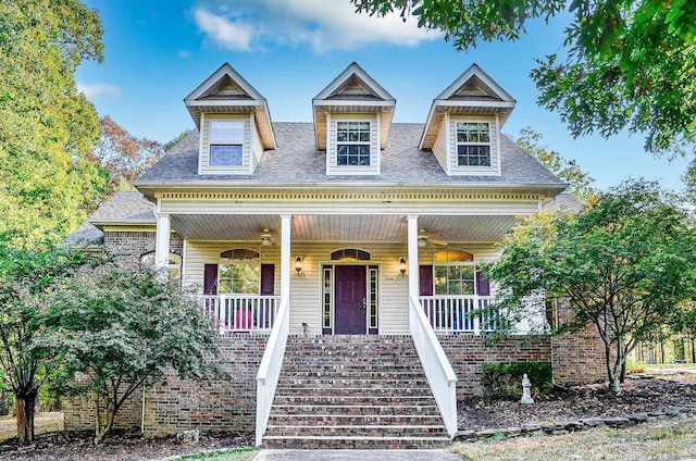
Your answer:
[[[499,176],[500,128],[515,100],[476,64],[431,105],[420,149],[450,175]]]

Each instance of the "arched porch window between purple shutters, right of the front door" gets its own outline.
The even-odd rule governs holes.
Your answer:
[[[435,295],[474,295],[476,267],[467,251],[440,251],[433,264]]]

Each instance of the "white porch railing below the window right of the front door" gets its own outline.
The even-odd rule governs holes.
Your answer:
[[[428,323],[437,333],[478,335],[482,331],[496,327],[497,313],[487,312],[486,309],[493,303],[492,296],[421,296],[420,302]]]

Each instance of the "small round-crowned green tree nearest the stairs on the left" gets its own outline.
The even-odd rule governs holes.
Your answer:
[[[111,431],[119,410],[141,386],[215,372],[214,332],[191,296],[146,266],[109,262],[82,271],[54,290],[44,347],[58,351],[62,383],[95,397],[95,443]]]

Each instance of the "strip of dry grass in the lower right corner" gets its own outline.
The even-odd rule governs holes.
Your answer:
[[[687,459],[696,457],[696,421],[689,416],[650,421],[623,429],[601,427],[557,436],[457,443],[451,451],[470,461]]]

